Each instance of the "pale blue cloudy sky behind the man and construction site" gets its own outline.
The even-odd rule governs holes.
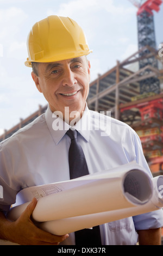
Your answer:
[[[93,52],[91,81],[137,51],[136,7],[128,0],[0,0],[0,135],[47,104],[24,65],[35,22],[68,16],[84,29]],[[163,42],[163,3],[154,13],[156,45]]]

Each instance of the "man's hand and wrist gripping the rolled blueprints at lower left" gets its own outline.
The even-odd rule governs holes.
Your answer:
[[[34,225],[30,216],[36,203],[37,200],[34,198],[15,222],[10,222],[6,219],[4,222],[4,218],[3,220],[0,218],[0,224],[3,223],[3,232],[0,238],[18,243],[19,245],[59,245],[60,242],[64,241],[68,234],[63,236],[52,235]]]

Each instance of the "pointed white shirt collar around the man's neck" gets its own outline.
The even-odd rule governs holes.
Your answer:
[[[47,107],[47,111],[45,113],[45,119],[48,126],[49,131],[55,141],[56,144],[60,142],[62,137],[64,137],[66,131],[70,129],[70,125],[67,124],[62,118],[57,117],[56,112],[55,114],[51,111],[51,108]],[[76,129],[80,135],[84,137],[84,139],[89,142],[90,138],[90,127],[91,127],[91,114],[89,108],[85,107],[83,112],[82,118],[77,122],[73,129]]]

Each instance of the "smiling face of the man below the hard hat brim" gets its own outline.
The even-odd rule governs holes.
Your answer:
[[[61,111],[65,119],[65,107],[69,107],[70,113],[78,111],[81,117],[89,94],[90,63],[86,57],[39,63],[38,73],[32,72],[33,80],[52,112]]]

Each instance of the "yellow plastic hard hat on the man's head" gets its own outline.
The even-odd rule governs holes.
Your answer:
[[[85,34],[76,21],[52,15],[36,22],[27,38],[26,66],[32,62],[57,62],[92,52]]]

